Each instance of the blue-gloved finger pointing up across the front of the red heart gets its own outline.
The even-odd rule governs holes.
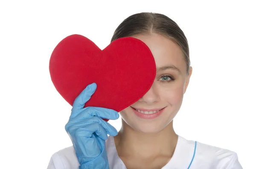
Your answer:
[[[93,93],[97,88],[96,83],[92,83],[88,85],[78,97],[76,97],[73,107],[71,109],[71,114],[78,112],[79,110],[84,108],[84,104],[91,98]]]

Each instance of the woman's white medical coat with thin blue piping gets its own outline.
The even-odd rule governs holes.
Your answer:
[[[116,152],[113,136],[106,140],[110,169],[126,169]],[[55,152],[47,169],[79,169],[73,146]],[[236,152],[186,140],[178,135],[172,159],[162,169],[242,169]]]

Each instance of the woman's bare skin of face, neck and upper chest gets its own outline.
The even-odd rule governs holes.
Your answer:
[[[169,162],[175,151],[178,136],[173,129],[173,118],[182,104],[192,67],[188,75],[180,46],[169,38],[155,33],[133,37],[149,47],[157,68],[174,65],[180,69],[180,73],[173,69],[157,72],[151,89],[131,105],[144,109],[166,107],[163,113],[154,119],[142,119],[129,106],[120,112],[122,128],[114,137],[119,158],[128,169],[159,169]],[[171,75],[175,80],[165,79],[163,75]],[[172,81],[164,83],[161,80]]]

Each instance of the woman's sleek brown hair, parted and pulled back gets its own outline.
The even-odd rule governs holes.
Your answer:
[[[186,36],[177,23],[164,14],[141,12],[129,16],[116,28],[111,42],[121,37],[150,33],[169,37],[180,46],[186,62],[186,73],[189,74],[189,45]]]

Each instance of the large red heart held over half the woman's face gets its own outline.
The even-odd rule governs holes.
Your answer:
[[[101,50],[86,37],[73,34],[53,50],[49,72],[55,88],[71,106],[95,82],[97,89],[85,106],[120,112],[150,89],[156,65],[148,46],[136,38],[119,38]]]

